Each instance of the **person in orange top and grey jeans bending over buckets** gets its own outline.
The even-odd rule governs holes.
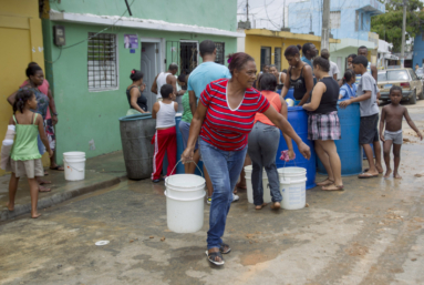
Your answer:
[[[261,93],[268,99],[271,106],[287,119],[287,103],[278,93],[273,92],[277,86],[277,79],[272,73],[265,73],[260,77]],[[291,139],[285,135],[289,146],[289,157],[294,159]],[[254,204],[256,210],[261,210],[263,203],[262,167],[267,172],[269,187],[273,204],[271,208],[280,208],[281,193],[280,181],[277,172],[276,155],[280,130],[262,113],[255,116],[255,125],[248,139],[248,153],[252,162],[251,185],[254,189]]]

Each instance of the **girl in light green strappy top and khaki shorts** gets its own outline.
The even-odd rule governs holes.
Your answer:
[[[18,190],[18,181],[20,177],[27,176],[31,193],[31,216],[35,218],[40,216],[37,212],[39,184],[37,183],[35,177],[44,176],[41,154],[37,142],[39,133],[50,157],[53,155],[53,152],[50,149],[49,140],[44,132],[42,116],[31,112],[30,109],[37,110],[37,99],[34,93],[30,90],[19,91],[13,103],[13,115],[9,121],[9,124],[17,125],[17,135],[11,153],[12,174],[9,182],[8,208],[9,211],[14,210],[14,196]]]

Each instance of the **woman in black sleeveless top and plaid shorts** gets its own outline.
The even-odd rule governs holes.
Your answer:
[[[308,139],[316,142],[316,152],[329,174],[317,183],[324,191],[342,191],[341,162],[334,140],[341,139],[338,116],[339,83],[329,75],[330,62],[321,57],[313,60],[313,73],[320,80],[313,89],[311,102],[303,105],[310,111]]]

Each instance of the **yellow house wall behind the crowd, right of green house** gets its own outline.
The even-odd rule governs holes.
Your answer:
[[[303,45],[303,43],[311,42],[313,43],[318,50],[321,49],[321,40],[320,41],[310,41],[310,40],[299,40],[299,39],[283,39],[283,38],[273,38],[273,37],[263,37],[263,35],[250,35],[246,34],[245,40],[245,50],[246,53],[250,54],[257,64],[257,69],[259,72],[260,69],[260,48],[261,47],[270,47],[271,48],[271,64],[275,63],[275,49],[281,48],[281,70],[288,69],[289,63],[285,58],[285,50],[289,45]]]

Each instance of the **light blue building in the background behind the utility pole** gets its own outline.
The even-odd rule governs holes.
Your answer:
[[[332,0],[330,2],[331,38],[340,39],[339,43],[330,43],[330,53],[331,60],[337,62],[341,71],[345,70],[347,57],[356,53],[358,47],[361,45],[369,49],[369,60],[376,63],[379,37],[370,32],[371,17],[384,12],[384,4],[378,0]],[[321,35],[322,1],[290,3],[289,28],[294,33]]]

